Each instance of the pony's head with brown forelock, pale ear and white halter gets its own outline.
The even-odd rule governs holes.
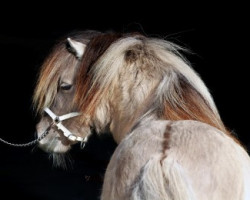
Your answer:
[[[75,77],[84,49],[91,37],[98,34],[95,31],[85,31],[68,35],[55,45],[41,67],[34,92],[34,104],[41,117],[37,124],[38,136],[51,123],[56,122],[54,116],[64,118],[57,125],[51,126],[49,134],[39,142],[39,146],[47,152],[65,153],[72,144],[83,141],[90,134],[90,127],[83,127],[79,123],[73,98]]]

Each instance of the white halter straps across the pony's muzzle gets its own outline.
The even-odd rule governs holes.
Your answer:
[[[63,124],[62,121],[66,120],[66,119],[70,119],[73,117],[77,117],[79,115],[81,115],[81,113],[79,112],[72,112],[72,113],[68,113],[62,116],[57,116],[55,113],[52,112],[52,110],[50,110],[49,108],[45,108],[44,111],[51,117],[51,119],[54,122],[54,125],[57,126],[57,128],[59,130],[61,130],[63,132],[63,135],[65,137],[67,137],[69,140],[71,141],[79,141],[79,142],[87,142],[87,137],[82,138],[79,136],[75,136],[74,134],[72,134]]]

